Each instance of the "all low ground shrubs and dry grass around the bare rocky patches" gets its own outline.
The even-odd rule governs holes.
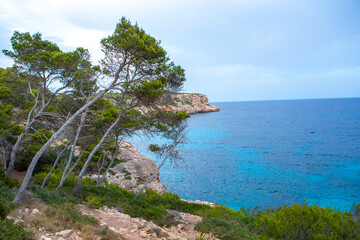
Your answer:
[[[38,173],[35,176],[39,182],[40,176],[44,175]],[[39,216],[35,222],[33,220],[31,224],[46,228],[50,232],[70,228],[83,232],[82,236],[122,239],[111,230],[101,227],[96,219],[76,210],[76,204],[84,204],[91,208],[107,206],[131,217],[151,220],[158,226],[168,227],[178,223],[172,211],[198,215],[203,220],[196,225],[196,229],[203,233],[210,232],[219,239],[359,239],[360,236],[359,204],[354,204],[350,211],[309,206],[306,202],[275,209],[233,210],[220,205],[211,207],[188,203],[176,194],[159,194],[151,190],[147,190],[138,200],[134,200],[135,193],[121,189],[117,185],[96,186],[96,181],[88,178],[84,178],[86,181],[81,186],[81,195],[75,196],[72,189],[76,185],[76,179],[70,178],[63,188],[54,190],[53,186],[57,185],[60,177],[61,173],[53,173],[50,182],[54,184],[49,184],[45,188],[37,184],[30,185],[26,196],[28,202],[46,204],[41,217]],[[31,233],[26,232],[23,225],[5,219],[9,211],[15,211],[17,207],[11,204],[11,199],[18,185],[16,181],[2,175],[1,226],[6,228],[2,234],[9,236],[3,239],[11,239],[14,234],[21,236],[17,239],[31,239]],[[108,237],[101,236],[100,233]],[[91,237],[85,239],[94,239]]]

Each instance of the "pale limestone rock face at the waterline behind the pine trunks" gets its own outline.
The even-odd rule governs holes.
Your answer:
[[[109,183],[117,184],[132,192],[137,192],[158,167],[154,160],[141,155],[139,150],[128,142],[123,142],[119,146],[117,158],[123,162],[111,168],[106,179]],[[159,175],[153,179],[148,188],[158,193],[168,192],[165,185],[160,182]]]

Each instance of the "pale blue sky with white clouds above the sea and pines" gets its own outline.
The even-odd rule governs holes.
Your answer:
[[[1,0],[0,48],[15,30],[40,32],[98,64],[122,16],[210,102],[360,97],[359,0]]]

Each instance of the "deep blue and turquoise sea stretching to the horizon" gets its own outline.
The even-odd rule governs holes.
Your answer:
[[[171,192],[234,209],[360,202],[360,98],[215,105],[189,119],[184,161],[161,169]]]

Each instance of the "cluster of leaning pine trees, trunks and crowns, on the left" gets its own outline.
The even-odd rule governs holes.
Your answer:
[[[75,174],[74,194],[80,194],[91,170],[101,185],[118,144],[139,131],[167,139],[156,152],[164,161],[176,158],[189,115],[164,111],[155,102],[181,89],[184,70],[139,26],[120,20],[101,41],[101,66],[92,65],[86,49],[63,52],[40,33],[15,32],[11,43],[13,51],[3,53],[14,67],[1,69],[1,158],[8,176],[15,168],[26,170],[13,203],[20,202],[33,173],[46,166],[42,186],[56,169],[62,172],[57,189]],[[146,111],[138,109],[144,106]]]

